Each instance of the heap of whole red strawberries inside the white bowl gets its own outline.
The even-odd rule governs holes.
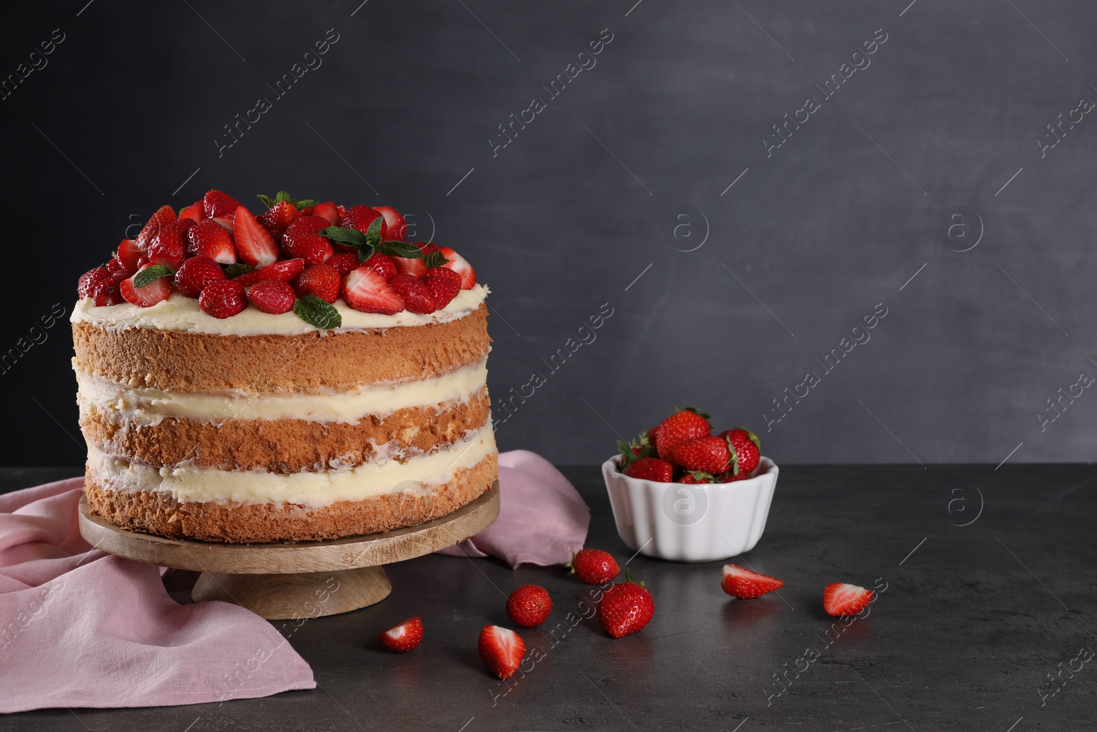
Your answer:
[[[677,409],[632,442],[619,441],[618,469],[629,477],[657,483],[732,483],[753,477],[761,442],[748,429],[712,433],[710,415]]]

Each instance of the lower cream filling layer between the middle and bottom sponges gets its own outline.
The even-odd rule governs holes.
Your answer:
[[[104,454],[92,444],[88,446],[88,465],[98,480],[115,491],[167,493],[180,503],[285,503],[318,508],[386,493],[422,494],[429,486],[449,483],[457,470],[472,468],[495,449],[489,421],[445,450],[325,473],[151,468]]]

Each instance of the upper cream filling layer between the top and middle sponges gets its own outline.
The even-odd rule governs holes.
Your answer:
[[[363,384],[352,390],[323,392],[165,392],[127,386],[76,367],[77,404],[81,413],[124,416],[137,427],[160,424],[165,417],[203,421],[222,419],[303,419],[357,424],[371,415],[387,417],[397,409],[467,402],[487,384],[487,360],[431,379]]]

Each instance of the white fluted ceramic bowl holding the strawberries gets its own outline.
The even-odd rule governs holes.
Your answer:
[[[618,533],[633,550],[676,562],[712,562],[754,549],[766,529],[778,469],[762,457],[754,477],[735,483],[656,483],[602,463]]]

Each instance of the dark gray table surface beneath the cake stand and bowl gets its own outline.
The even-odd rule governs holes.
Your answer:
[[[587,545],[624,563],[633,552],[598,469],[563,470],[591,508]],[[71,474],[11,469],[0,491]],[[484,624],[509,624],[505,594],[544,585],[555,623],[591,587],[558,567],[431,555],[389,565],[384,601],[294,632],[314,690],[39,710],[0,717],[0,729],[1094,730],[1097,661],[1074,660],[1097,650],[1095,481],[1097,468],[1073,464],[787,466],[766,533],[743,558],[785,581],[780,596],[730,598],[721,562],[635,556],[629,566],[655,598],[651,624],[620,640],[597,620],[555,642],[548,628],[525,630],[544,658],[511,686],[476,655]],[[823,612],[826,584],[878,578],[886,589],[868,618],[844,629]],[[377,631],[412,615],[426,628],[419,649],[385,651]],[[813,663],[799,661],[806,649]],[[777,696],[782,674],[792,680]],[[1062,679],[1054,696],[1049,674]]]

